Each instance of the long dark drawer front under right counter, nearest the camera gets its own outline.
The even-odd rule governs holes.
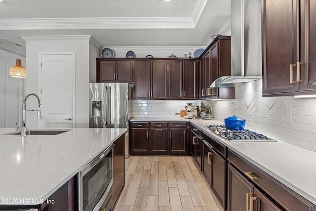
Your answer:
[[[264,190],[270,197],[276,200],[283,208],[291,211],[311,211],[315,205],[305,198],[270,176],[265,171],[254,166],[233,151],[228,150],[227,159],[253,184]]]

